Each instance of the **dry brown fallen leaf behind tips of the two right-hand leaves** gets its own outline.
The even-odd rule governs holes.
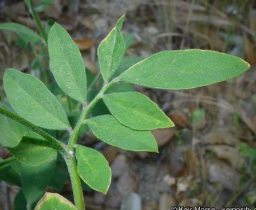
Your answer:
[[[156,129],[152,131],[154,137],[156,138],[156,142],[158,143],[158,147],[161,148],[163,145],[167,144],[171,138],[175,135],[174,128],[168,129]]]

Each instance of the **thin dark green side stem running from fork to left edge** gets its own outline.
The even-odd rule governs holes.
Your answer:
[[[26,125],[26,127],[29,127],[30,129],[32,129],[32,131],[34,131],[35,133],[38,133],[41,137],[45,138],[46,140],[49,140],[49,142],[51,143],[51,146],[53,146],[53,148],[55,148],[56,150],[58,150],[60,153],[64,154],[65,156],[69,156],[68,150],[65,148],[66,146],[62,142],[60,142],[56,138],[53,138],[51,135],[49,135],[48,133],[46,133],[39,127],[33,125],[26,119],[24,119],[20,116],[17,116],[16,114],[10,112],[9,110],[2,108],[1,106],[0,106],[0,114],[3,114],[4,116],[7,116],[11,119],[14,119],[18,123]]]

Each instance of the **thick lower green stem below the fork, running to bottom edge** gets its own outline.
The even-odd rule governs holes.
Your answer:
[[[72,189],[74,194],[75,207],[78,210],[85,210],[85,201],[83,200],[83,190],[81,187],[81,180],[77,173],[77,167],[75,158],[65,158],[68,166],[68,172],[70,173],[70,180],[72,183]]]

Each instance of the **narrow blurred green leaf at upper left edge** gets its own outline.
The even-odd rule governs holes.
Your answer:
[[[26,41],[26,43],[41,40],[41,37],[34,31],[30,30],[30,28],[14,22],[0,24],[0,30],[13,31],[17,33],[24,41]]]

